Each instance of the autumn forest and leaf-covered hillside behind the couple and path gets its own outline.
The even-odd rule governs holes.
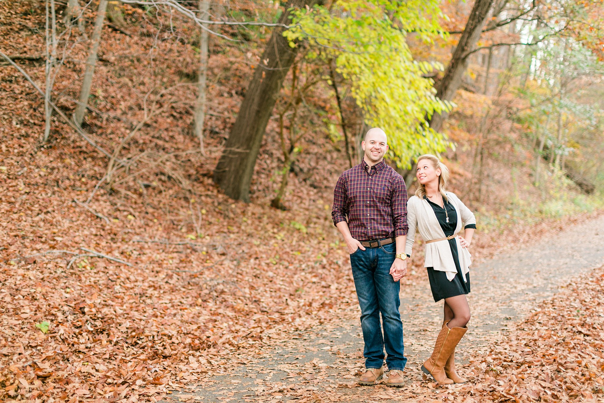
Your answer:
[[[411,193],[443,157],[476,259],[599,214],[602,7],[0,2],[0,398],[155,401],[355,306],[368,127]]]

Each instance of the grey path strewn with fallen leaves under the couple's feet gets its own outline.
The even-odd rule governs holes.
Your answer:
[[[537,303],[554,295],[573,277],[604,264],[604,216],[574,225],[521,249],[503,245],[494,259],[471,268],[470,330],[458,348],[461,363],[498,340],[508,324],[522,320]],[[233,357],[239,367],[216,373],[202,384],[175,393],[168,402],[401,401],[417,396],[419,370],[432,350],[442,321],[442,303],[432,300],[425,276],[401,289],[400,312],[408,363],[405,388],[358,387],[362,335],[357,312],[294,340],[260,349],[254,356]],[[463,373],[463,370],[460,371]],[[423,382],[424,384],[426,382]],[[411,385],[414,385],[413,387]],[[429,392],[429,391],[428,391]],[[329,401],[316,395],[316,402]]]

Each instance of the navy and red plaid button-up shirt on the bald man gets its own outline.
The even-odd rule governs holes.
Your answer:
[[[365,160],[340,175],[333,190],[333,224],[348,221],[357,240],[406,235],[407,188],[384,160],[371,170]]]

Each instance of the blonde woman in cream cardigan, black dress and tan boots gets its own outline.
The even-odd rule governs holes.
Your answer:
[[[426,243],[424,266],[428,272],[434,301],[445,300],[443,327],[434,352],[423,363],[422,371],[440,384],[463,383],[455,373],[455,346],[466,333],[470,307],[468,267],[471,256],[467,248],[476,228],[474,214],[454,193],[446,192],[449,170],[439,158],[426,154],[417,160],[415,196],[407,203],[409,232],[405,253],[411,256],[416,230]],[[464,234],[455,236],[465,225]]]

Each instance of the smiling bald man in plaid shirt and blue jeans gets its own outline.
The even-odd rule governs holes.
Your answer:
[[[407,190],[402,176],[384,161],[388,139],[382,129],[370,129],[361,146],[363,160],[339,177],[332,210],[333,224],[350,253],[361,307],[365,370],[359,384],[373,385],[382,379],[385,348],[387,385],[402,386],[407,359],[403,355],[399,280],[407,271]]]

